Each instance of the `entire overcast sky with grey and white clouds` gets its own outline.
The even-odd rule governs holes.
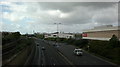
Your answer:
[[[117,2],[1,2],[2,31],[21,33],[82,32],[118,25]]]

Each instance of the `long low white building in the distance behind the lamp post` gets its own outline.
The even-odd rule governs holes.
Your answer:
[[[44,35],[45,38],[74,38],[73,34],[70,33],[51,33],[51,34],[45,34]]]

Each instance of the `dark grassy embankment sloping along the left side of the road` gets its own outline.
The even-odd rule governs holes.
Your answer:
[[[7,54],[3,53],[3,65],[24,65],[32,48],[34,47],[34,40],[32,38],[22,38],[17,42],[10,44],[14,48],[9,47]],[[7,48],[7,46],[6,46]],[[3,47],[4,49],[4,47]],[[5,49],[4,49],[5,50]]]

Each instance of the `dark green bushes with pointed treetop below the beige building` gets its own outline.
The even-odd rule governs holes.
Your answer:
[[[89,50],[120,64],[120,41],[113,35],[109,41],[90,40]]]

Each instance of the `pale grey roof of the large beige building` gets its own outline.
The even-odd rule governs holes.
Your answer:
[[[93,29],[83,30],[83,32],[110,31],[110,30],[120,30],[120,26],[104,25],[94,27]]]

